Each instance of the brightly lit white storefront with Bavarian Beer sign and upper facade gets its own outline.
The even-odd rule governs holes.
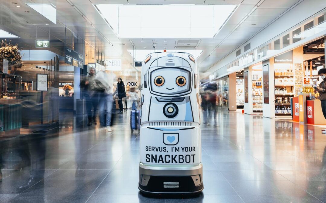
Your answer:
[[[230,75],[243,69],[244,113],[291,118],[291,99],[294,96],[308,91],[312,98],[318,97],[310,87],[319,84],[317,72],[325,67],[325,19],[326,13],[322,11],[257,48],[250,49],[250,43],[241,45],[235,50],[238,58],[211,73],[209,81],[229,76],[230,103]],[[250,51],[246,48],[248,46]],[[237,55],[236,52],[244,54]],[[238,79],[235,100],[239,107],[241,88],[238,86],[241,80]]]

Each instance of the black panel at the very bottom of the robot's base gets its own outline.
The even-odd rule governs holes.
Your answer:
[[[178,182],[178,188],[164,188],[164,182]],[[138,184],[143,194],[184,194],[198,195],[204,188],[203,184],[196,186],[191,176],[151,176],[147,186]]]

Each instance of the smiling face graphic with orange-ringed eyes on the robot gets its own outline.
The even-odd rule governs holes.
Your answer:
[[[151,72],[151,90],[159,94],[176,95],[190,91],[191,72],[183,68],[159,68]]]

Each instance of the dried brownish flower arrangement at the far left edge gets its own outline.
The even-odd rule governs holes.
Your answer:
[[[18,44],[11,44],[11,41],[7,43],[7,40],[1,41],[0,47],[0,62],[3,63],[3,59],[8,60],[8,66],[14,66],[15,68],[22,68],[22,55],[18,50]]]

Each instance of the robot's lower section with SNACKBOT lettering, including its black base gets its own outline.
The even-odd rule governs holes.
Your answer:
[[[197,194],[203,190],[198,124],[142,125],[140,136],[141,192]]]

